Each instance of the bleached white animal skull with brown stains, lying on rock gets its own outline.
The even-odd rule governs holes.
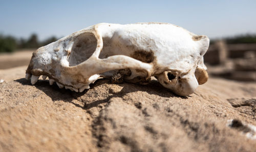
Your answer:
[[[97,79],[113,78],[119,71],[128,82],[156,77],[184,96],[208,79],[203,63],[208,45],[206,36],[169,23],[99,23],[38,48],[26,79],[32,74],[35,84],[43,75],[50,85],[56,81],[59,88],[82,92]]]

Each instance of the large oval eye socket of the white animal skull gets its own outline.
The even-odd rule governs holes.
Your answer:
[[[89,59],[95,52],[97,39],[92,33],[82,33],[75,38],[70,56],[69,66],[75,66]]]

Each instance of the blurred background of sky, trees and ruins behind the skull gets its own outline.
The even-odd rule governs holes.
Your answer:
[[[28,65],[32,52],[97,24],[168,22],[210,38],[214,77],[256,81],[256,1],[0,1],[0,69]]]

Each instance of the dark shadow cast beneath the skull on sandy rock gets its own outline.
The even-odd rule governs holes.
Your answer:
[[[30,81],[26,80],[25,78],[17,79],[15,81],[22,85],[31,86]],[[97,93],[99,93],[97,91],[99,91],[100,89],[97,90],[95,88],[97,88],[98,86],[104,85],[104,84],[111,84],[111,83],[109,82],[109,80],[100,79],[100,80],[97,80],[94,84],[90,85],[91,88],[89,90],[92,89],[97,94]],[[139,85],[139,84],[132,84],[132,83],[123,83],[123,84],[115,84],[115,85],[122,87],[122,90],[117,93],[113,93],[113,92],[111,92],[110,89],[106,89],[105,93],[107,95],[104,99],[101,99],[101,100],[95,99],[95,101],[90,102],[90,103],[88,103],[86,100],[82,100],[81,102],[84,103],[84,106],[74,103],[73,100],[74,99],[78,100],[78,98],[82,98],[82,96],[91,96],[91,93],[88,93],[89,90],[84,90],[83,92],[77,93],[75,91],[66,90],[65,88],[59,89],[58,86],[56,85],[56,83],[54,83],[52,86],[50,86],[48,80],[45,80],[45,81],[38,80],[34,86],[37,89],[43,91],[49,97],[51,97],[53,101],[63,100],[64,102],[72,103],[76,107],[79,107],[79,108],[82,108],[85,110],[88,110],[92,107],[97,107],[99,104],[106,103],[112,97],[123,97],[127,93],[137,92],[137,91],[143,91],[143,92],[147,92],[148,94],[155,94],[155,95],[159,95],[161,97],[179,97],[179,98],[190,97],[190,96],[177,96],[177,95],[173,94],[172,92],[170,92],[168,89],[164,88],[159,82],[154,81],[154,80],[150,84],[147,84],[147,85]]]

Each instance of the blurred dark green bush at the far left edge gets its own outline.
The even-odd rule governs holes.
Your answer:
[[[13,52],[16,49],[16,40],[11,36],[0,35],[0,53]]]

